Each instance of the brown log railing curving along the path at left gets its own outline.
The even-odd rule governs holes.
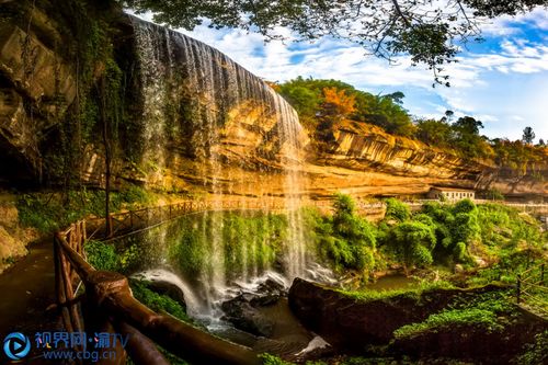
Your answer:
[[[105,219],[80,220],[57,232],[54,237],[56,300],[66,331],[117,332],[129,337],[125,349],[119,344],[113,349],[115,361],[100,360],[100,364],[124,364],[127,354],[138,365],[169,364],[155,343],[197,364],[260,364],[249,347],[221,340],[169,315],[153,312],[133,297],[124,275],[91,266],[83,248],[92,237],[119,237],[196,212],[265,208],[264,204],[182,202],[113,214],[109,217],[111,232],[105,231]],[[272,204],[270,208],[282,205]]]

